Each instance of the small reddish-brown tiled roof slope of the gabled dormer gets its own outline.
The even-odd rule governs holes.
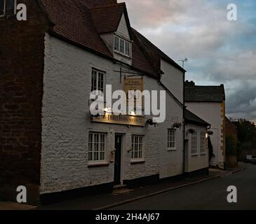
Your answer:
[[[93,19],[97,33],[110,33],[118,29],[125,4],[119,3],[114,6],[92,8],[90,15]]]

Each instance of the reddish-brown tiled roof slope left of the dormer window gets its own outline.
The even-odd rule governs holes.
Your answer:
[[[112,57],[97,34],[90,10],[79,0],[41,0],[58,36]]]

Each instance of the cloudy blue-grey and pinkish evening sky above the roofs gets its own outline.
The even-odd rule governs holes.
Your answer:
[[[227,20],[229,3],[237,6],[237,21]],[[176,62],[189,57],[187,80],[223,83],[227,115],[256,122],[255,0],[126,0],[126,5],[135,29]]]

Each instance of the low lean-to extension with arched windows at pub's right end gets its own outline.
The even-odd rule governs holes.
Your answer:
[[[210,124],[185,110],[185,173],[208,174],[208,130]]]

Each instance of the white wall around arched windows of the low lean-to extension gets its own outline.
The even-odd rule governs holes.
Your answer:
[[[187,124],[186,125],[186,137],[185,139],[188,139],[188,148],[186,152],[186,172],[194,172],[196,170],[204,169],[209,167],[209,162],[208,162],[208,148],[206,148],[206,153],[201,153],[201,139],[200,139],[200,134],[201,132],[207,132],[206,127],[200,126],[200,125],[194,125],[194,124]],[[197,133],[197,154],[192,155],[191,154],[191,134],[187,134],[187,131],[189,129],[194,129],[196,130]]]

